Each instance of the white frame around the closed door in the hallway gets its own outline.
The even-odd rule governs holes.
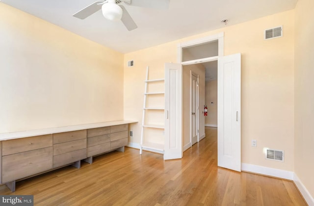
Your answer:
[[[192,70],[190,70],[190,142],[191,142],[191,146],[193,145],[193,142],[192,142],[192,137],[193,137],[193,132],[192,132],[192,76],[196,77],[197,78],[197,88],[196,88],[196,105],[197,105],[197,108],[196,108],[196,129],[197,129],[197,142],[200,141],[200,134],[199,134],[199,88],[198,88],[198,85],[199,85],[199,75],[198,74],[195,74],[194,72],[192,72]],[[190,146],[190,147],[191,147]]]

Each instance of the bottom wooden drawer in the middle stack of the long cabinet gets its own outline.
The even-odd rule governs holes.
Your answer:
[[[53,156],[53,168],[56,168],[65,164],[70,164],[72,162],[85,159],[86,157],[87,157],[86,149],[81,149],[74,152]]]

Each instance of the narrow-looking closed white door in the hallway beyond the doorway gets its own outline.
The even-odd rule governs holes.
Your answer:
[[[198,140],[198,75],[190,74],[190,139],[194,145]]]

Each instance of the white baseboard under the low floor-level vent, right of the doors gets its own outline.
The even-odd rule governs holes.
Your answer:
[[[282,178],[287,180],[293,180],[294,172],[290,172],[287,170],[279,170],[270,167],[262,167],[254,164],[241,164],[241,170],[246,172],[257,173],[261,175],[272,176],[276,178]]]

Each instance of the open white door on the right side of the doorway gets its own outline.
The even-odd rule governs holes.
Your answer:
[[[241,54],[218,57],[218,166],[241,171]]]

